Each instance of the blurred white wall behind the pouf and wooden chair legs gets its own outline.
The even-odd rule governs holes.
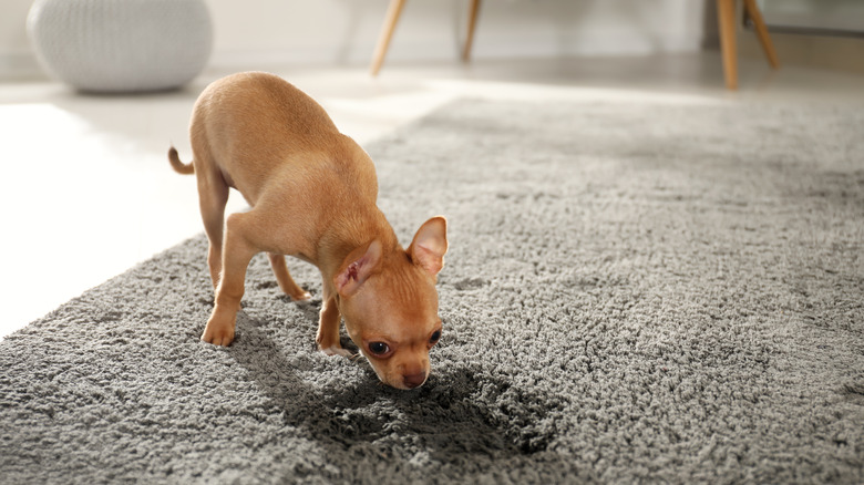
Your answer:
[[[389,0],[206,0],[213,63],[366,64]],[[0,79],[34,69],[32,0],[2,0]],[[388,62],[456,59],[467,0],[409,0]],[[484,0],[475,59],[699,50],[703,0]],[[245,65],[244,65],[245,66]]]

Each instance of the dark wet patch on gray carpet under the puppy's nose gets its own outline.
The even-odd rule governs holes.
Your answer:
[[[409,441],[433,460],[453,456],[533,455],[555,438],[547,426],[555,398],[516,389],[504,380],[461,370],[433,374],[416,391],[374,386],[377,396],[337,393],[320,429],[338,430],[338,440],[353,442]]]

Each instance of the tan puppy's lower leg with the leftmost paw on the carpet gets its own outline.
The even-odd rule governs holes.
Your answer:
[[[237,311],[244,293],[246,269],[258,252],[246,237],[246,219],[251,213],[228,217],[223,246],[223,274],[216,288],[216,305],[200,339],[214,345],[229,345],[234,341]]]

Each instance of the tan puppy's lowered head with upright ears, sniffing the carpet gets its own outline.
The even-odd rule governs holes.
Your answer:
[[[388,385],[414,389],[429,376],[429,351],[441,338],[435,280],[446,250],[446,220],[433,217],[408,250],[374,240],[333,278],[348,334]]]

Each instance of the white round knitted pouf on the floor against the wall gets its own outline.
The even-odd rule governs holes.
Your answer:
[[[178,87],[213,47],[204,0],[35,0],[27,28],[42,65],[82,91]]]

